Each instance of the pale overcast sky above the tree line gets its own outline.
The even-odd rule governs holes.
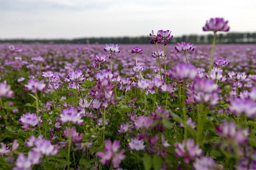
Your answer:
[[[256,0],[0,0],[0,39],[203,35],[211,17],[256,32]]]

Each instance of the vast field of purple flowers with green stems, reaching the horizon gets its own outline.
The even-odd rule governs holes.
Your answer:
[[[0,44],[1,169],[256,170],[256,45],[170,34]]]

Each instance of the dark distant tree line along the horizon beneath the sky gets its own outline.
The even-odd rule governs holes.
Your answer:
[[[37,39],[11,39],[11,40],[0,40],[0,43],[9,42],[9,43],[113,43],[113,44],[148,44],[149,36],[140,36],[140,37],[110,37],[110,38],[78,38],[78,39],[52,39],[52,40],[37,40]],[[213,34],[207,35],[183,35],[183,36],[174,36],[169,43],[176,42],[192,42],[192,43],[212,43]],[[217,34],[216,38],[217,43],[256,43],[256,33],[225,33]]]

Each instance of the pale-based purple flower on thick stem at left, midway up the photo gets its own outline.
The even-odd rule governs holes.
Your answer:
[[[44,83],[44,80],[41,80],[39,82],[38,79],[29,79],[27,80],[27,85],[24,85],[25,90],[31,90],[32,93],[36,93],[37,90],[43,92],[46,89],[46,84]]]

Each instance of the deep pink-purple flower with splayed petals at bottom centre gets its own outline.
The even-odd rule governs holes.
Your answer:
[[[97,152],[96,156],[101,157],[101,163],[103,165],[107,165],[112,158],[111,164],[114,168],[118,168],[119,164],[126,156],[123,154],[125,150],[119,150],[119,141],[114,140],[113,144],[111,143],[110,139],[105,141],[105,152]]]

